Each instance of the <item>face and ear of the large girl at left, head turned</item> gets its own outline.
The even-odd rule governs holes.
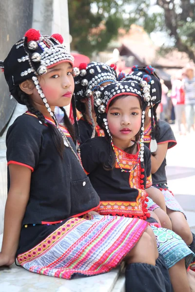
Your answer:
[[[69,105],[75,87],[71,64],[63,62],[48,69],[47,73],[39,78],[39,84],[50,107]],[[31,97],[35,103],[43,104],[36,88]]]

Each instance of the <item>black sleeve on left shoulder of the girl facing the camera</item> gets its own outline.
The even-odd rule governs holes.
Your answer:
[[[80,146],[83,168],[87,173],[95,170],[99,164],[108,160],[109,144],[104,137],[95,137],[87,140]]]

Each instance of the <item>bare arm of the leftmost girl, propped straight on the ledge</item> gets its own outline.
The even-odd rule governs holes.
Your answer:
[[[11,265],[18,249],[22,219],[29,200],[31,169],[9,165],[10,189],[5,205],[3,242],[0,266]]]

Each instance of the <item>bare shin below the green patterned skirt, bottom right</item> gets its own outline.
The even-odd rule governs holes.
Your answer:
[[[174,292],[191,292],[184,258],[169,269],[169,274]]]

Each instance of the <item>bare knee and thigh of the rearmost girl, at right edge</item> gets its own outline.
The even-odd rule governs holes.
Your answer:
[[[167,208],[167,214],[172,222],[173,231],[178,234],[187,245],[191,245],[193,235],[183,213]]]

